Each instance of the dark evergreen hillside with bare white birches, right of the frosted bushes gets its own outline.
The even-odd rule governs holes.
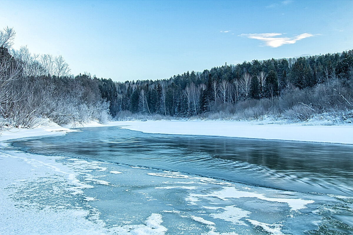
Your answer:
[[[122,111],[175,117],[205,116],[205,113],[232,109],[237,112],[237,107],[250,109],[266,102],[271,104],[267,111],[277,114],[298,105],[305,112],[309,109],[320,113],[352,109],[352,66],[353,50],[349,50],[225,64],[163,80],[113,82],[100,79],[99,87],[102,97],[110,102],[109,111],[113,117],[119,117]],[[289,99],[288,94],[293,91],[319,95],[315,92],[324,87],[330,90],[321,92],[323,97],[316,97],[317,100],[302,97],[292,100],[292,105],[278,107],[280,100]]]

